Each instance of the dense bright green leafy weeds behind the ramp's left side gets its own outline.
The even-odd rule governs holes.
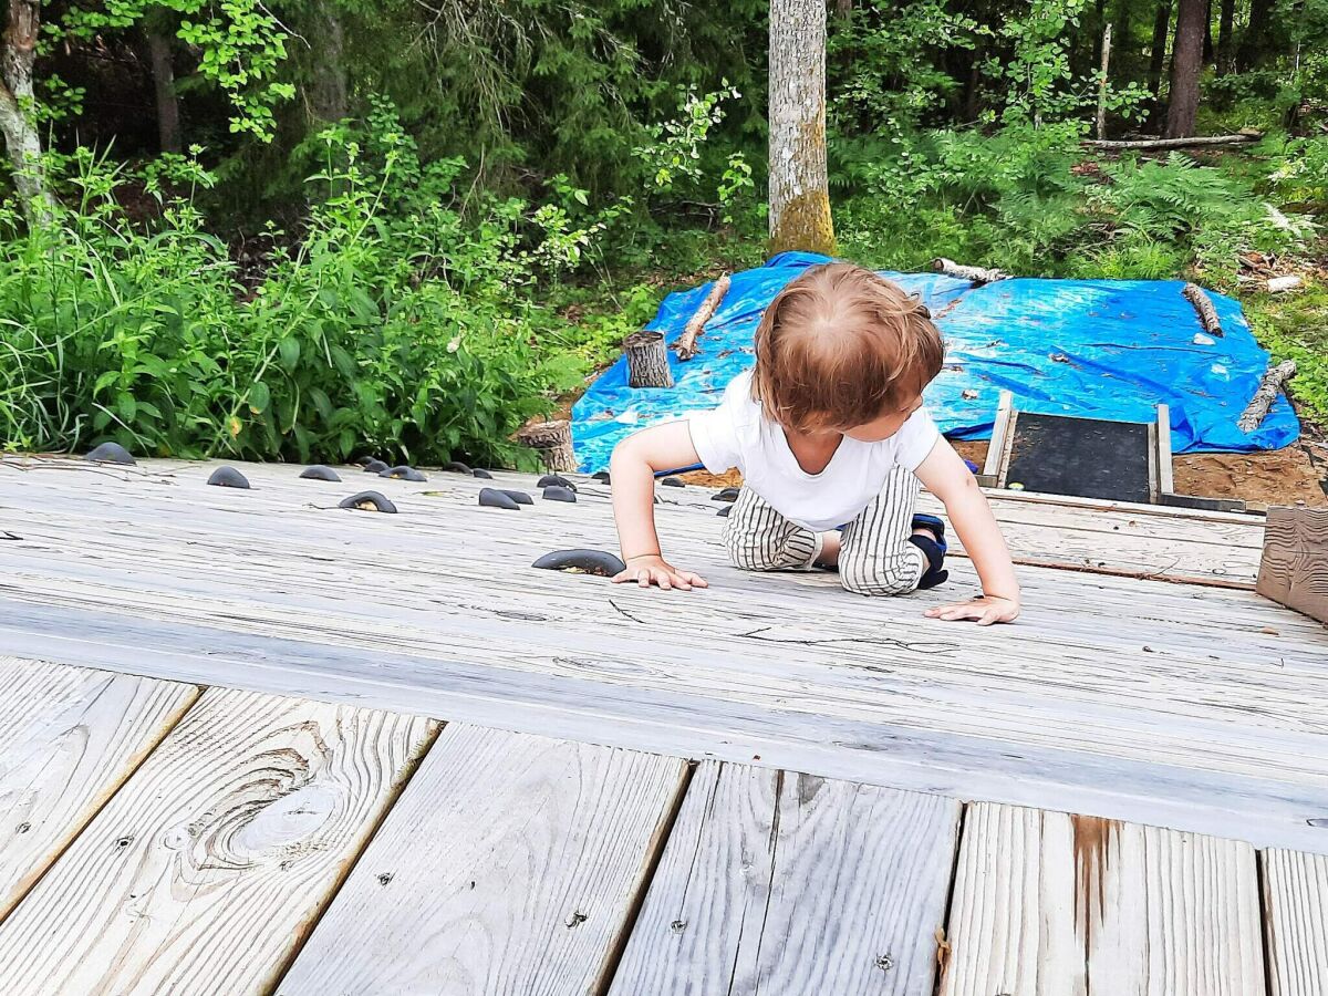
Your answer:
[[[511,462],[509,434],[579,381],[583,363],[542,345],[560,323],[529,293],[542,246],[522,240],[526,205],[463,216],[437,199],[461,163],[421,165],[400,133],[363,154],[328,133],[311,179],[328,195],[297,243],[271,232],[252,288],[189,199],[163,198],[143,230],[114,199],[124,175],[80,163],[84,198],[52,226],[0,218],[11,448]]]

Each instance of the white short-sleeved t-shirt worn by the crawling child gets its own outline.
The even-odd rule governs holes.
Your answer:
[[[819,474],[798,466],[784,429],[769,421],[752,400],[752,373],[736,377],[724,401],[709,412],[688,416],[692,445],[712,474],[730,467],[742,483],[801,526],[825,531],[843,526],[875,501],[896,466],[916,470],[940,432],[926,408],[919,408],[894,436],[859,442],[847,436]]]

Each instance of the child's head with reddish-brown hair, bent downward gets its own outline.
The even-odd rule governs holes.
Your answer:
[[[765,309],[752,393],[766,417],[793,432],[884,440],[922,404],[944,352],[927,308],[896,284],[827,263]]]

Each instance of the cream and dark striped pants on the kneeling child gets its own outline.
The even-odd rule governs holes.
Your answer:
[[[918,478],[896,466],[876,499],[843,530],[839,580],[858,595],[914,591],[927,558],[908,542]],[[744,571],[806,571],[821,555],[821,535],[784,518],[749,487],[738,493],[724,529],[724,546]]]

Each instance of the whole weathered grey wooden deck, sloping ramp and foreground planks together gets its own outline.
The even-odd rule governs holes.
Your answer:
[[[701,489],[667,595],[530,568],[592,482],[242,469],[0,461],[7,995],[1328,993],[1328,629],[1256,521],[1003,498],[979,629],[961,559],[728,568]]]

